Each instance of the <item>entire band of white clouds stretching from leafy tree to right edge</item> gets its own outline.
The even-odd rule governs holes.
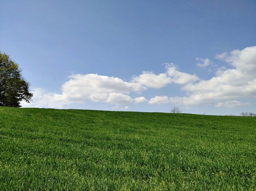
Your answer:
[[[217,68],[209,80],[199,79],[196,74],[181,72],[177,65],[165,63],[165,72],[155,74],[143,71],[133,76],[130,82],[118,77],[99,74],[72,74],[70,80],[62,85],[62,93],[48,93],[42,88],[33,89],[33,103],[22,102],[23,107],[63,108],[72,103],[101,102],[119,107],[131,104],[166,104],[181,106],[214,105],[215,107],[238,107],[249,103],[239,102],[241,98],[256,98],[256,46],[243,50],[233,50],[216,55],[231,69]],[[196,58],[198,67],[215,65],[208,58]],[[143,94],[149,88],[160,89],[169,84],[180,85],[186,96],[168,97],[156,95],[146,99],[144,96],[132,98],[131,93]],[[122,108],[129,108],[125,106]]]

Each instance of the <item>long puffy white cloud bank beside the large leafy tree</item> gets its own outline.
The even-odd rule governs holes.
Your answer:
[[[141,93],[146,87],[136,82],[125,82],[117,77],[98,74],[73,74],[62,85],[62,94],[47,93],[41,88],[33,90],[33,102],[22,102],[23,107],[62,108],[71,103],[104,102],[115,105],[137,104],[147,101],[145,97],[132,98],[130,92]]]

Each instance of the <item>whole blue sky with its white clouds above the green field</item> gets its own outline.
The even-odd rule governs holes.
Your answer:
[[[256,1],[1,1],[23,107],[256,112]]]

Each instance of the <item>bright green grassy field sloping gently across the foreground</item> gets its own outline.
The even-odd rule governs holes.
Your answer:
[[[0,107],[1,190],[255,190],[256,117]]]

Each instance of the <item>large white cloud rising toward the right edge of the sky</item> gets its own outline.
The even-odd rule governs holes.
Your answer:
[[[225,52],[217,55],[216,58],[226,61],[233,68],[220,68],[216,72],[216,76],[210,80],[185,84],[182,90],[189,96],[170,97],[168,102],[181,105],[199,105],[256,97],[256,46],[234,50],[230,53]]]

